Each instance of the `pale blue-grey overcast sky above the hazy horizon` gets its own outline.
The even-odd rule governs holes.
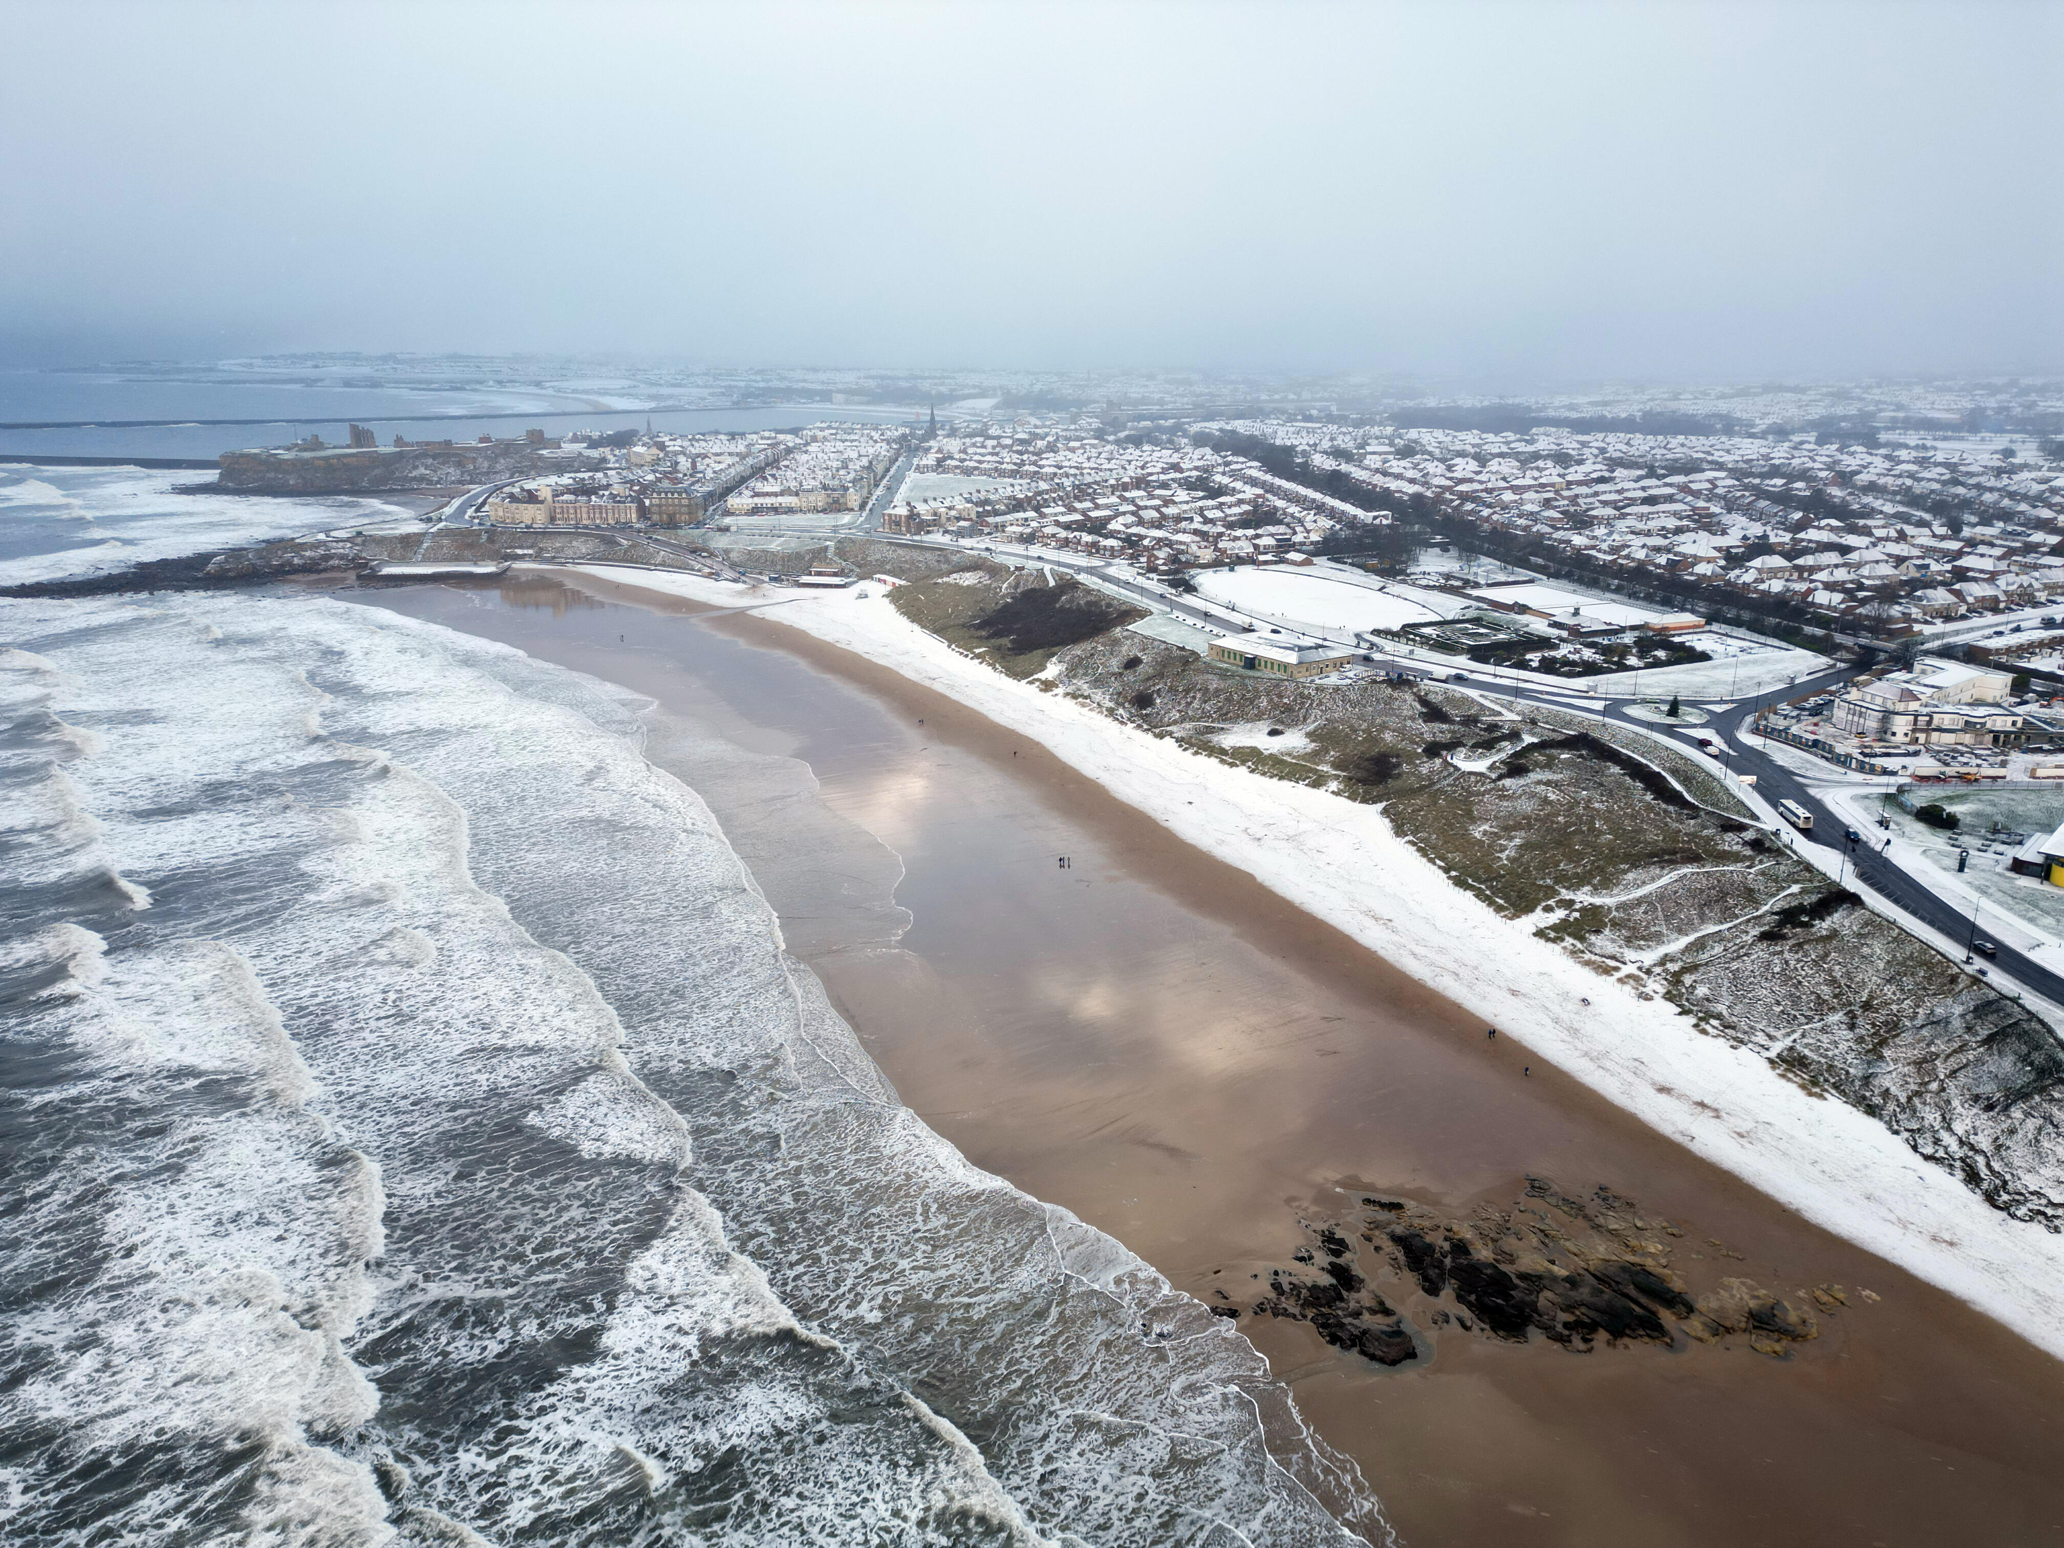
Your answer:
[[[0,357],[2064,369],[2064,4],[0,0]]]

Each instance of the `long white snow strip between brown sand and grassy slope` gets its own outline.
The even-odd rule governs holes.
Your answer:
[[[1878,1121],[1808,1096],[1662,999],[1581,968],[1455,888],[1375,807],[1199,757],[956,652],[879,592],[801,599],[694,576],[586,574],[768,617],[1034,737],[1179,838],[1253,873],[1707,1160],[2064,1356],[2064,1236],[2017,1222]]]

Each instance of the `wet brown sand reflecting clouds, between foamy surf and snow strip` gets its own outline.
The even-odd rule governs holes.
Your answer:
[[[1181,1288],[1288,1263],[1298,1216],[1362,1189],[1509,1207],[1529,1172],[1674,1220],[1692,1292],[1849,1288],[1785,1360],[1494,1344],[1391,1296],[1434,1356],[1383,1370],[1243,1319],[1406,1542],[2064,1542],[2064,1364],[1488,1042],[1038,745],[778,607],[537,576],[355,599],[652,696],[648,751],[710,801],[904,1100]]]

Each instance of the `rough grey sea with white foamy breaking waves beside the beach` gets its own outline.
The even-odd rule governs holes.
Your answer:
[[[213,499],[4,469],[0,584],[376,514]],[[1385,1542],[1232,1321],[898,1100],[650,710],[0,599],[0,1540]]]

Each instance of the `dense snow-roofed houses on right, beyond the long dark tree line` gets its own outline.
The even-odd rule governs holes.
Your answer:
[[[1379,497],[1459,514],[1631,582],[1899,634],[2064,596],[2064,471],[1971,448],[1344,429],[1228,421]]]

